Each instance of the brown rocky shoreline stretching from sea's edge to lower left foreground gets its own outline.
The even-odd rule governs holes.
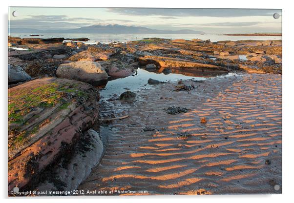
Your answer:
[[[138,67],[165,74],[176,69],[189,69],[202,75],[282,74],[282,41],[147,38],[128,43],[83,42],[88,40],[8,37],[9,191],[15,186],[48,189],[51,185],[51,189],[75,189],[105,151],[105,138],[99,134],[102,122],[98,116],[100,88],[109,80],[136,74]],[[150,82],[168,87],[161,81]],[[195,88],[186,84],[178,86],[181,92]],[[159,91],[164,94],[163,90]],[[149,116],[154,117],[150,113]],[[83,142],[85,136],[89,137],[89,130],[91,135],[96,132],[98,140],[96,146],[86,151],[96,153],[97,160],[87,169],[84,178],[70,181],[74,177],[68,175],[63,180],[44,179],[42,174],[48,174],[49,168],[59,165],[64,154],[76,150],[78,143]],[[90,156],[83,153],[75,156]],[[71,164],[75,162],[61,168]],[[61,168],[57,167],[55,172],[64,173]],[[67,182],[67,186],[63,182]]]

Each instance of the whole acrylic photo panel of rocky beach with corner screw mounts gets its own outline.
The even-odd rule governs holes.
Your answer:
[[[8,196],[281,193],[281,9],[9,7]]]

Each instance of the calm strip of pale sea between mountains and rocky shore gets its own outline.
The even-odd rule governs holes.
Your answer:
[[[38,35],[38,33],[32,33]],[[282,40],[281,36],[227,36],[227,35],[215,35],[215,34],[206,34],[206,35],[195,35],[195,34],[93,34],[93,33],[56,33],[56,34],[40,34],[42,36],[29,36],[28,33],[10,33],[13,37],[21,38],[89,38],[90,41],[86,43],[110,43],[113,41],[126,42],[141,40],[143,38],[166,38],[166,39],[201,39],[201,40],[210,40],[210,41],[223,41],[223,40]]]

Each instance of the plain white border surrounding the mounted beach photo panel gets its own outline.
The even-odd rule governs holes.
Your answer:
[[[211,196],[136,196],[136,197],[69,197],[69,198],[14,198],[7,199],[7,11],[8,6],[51,6],[51,7],[169,7],[169,8],[273,8],[283,9],[283,194],[282,195],[211,195]],[[52,203],[52,201],[60,202],[150,202],[163,201],[179,202],[184,200],[189,202],[205,202],[205,203],[247,203],[249,201],[266,201],[267,203],[288,202],[292,199],[294,189],[293,180],[293,149],[294,149],[294,125],[293,114],[293,88],[294,88],[294,30],[293,22],[294,10],[291,1],[277,0],[6,0],[1,1],[1,62],[0,67],[1,80],[1,198],[9,202],[41,202]],[[293,200],[292,200],[293,202]]]

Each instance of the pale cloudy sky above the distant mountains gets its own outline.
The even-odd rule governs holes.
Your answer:
[[[12,15],[17,11],[18,16]],[[281,9],[10,7],[11,28],[72,29],[94,24],[191,29],[209,34],[281,33]]]

